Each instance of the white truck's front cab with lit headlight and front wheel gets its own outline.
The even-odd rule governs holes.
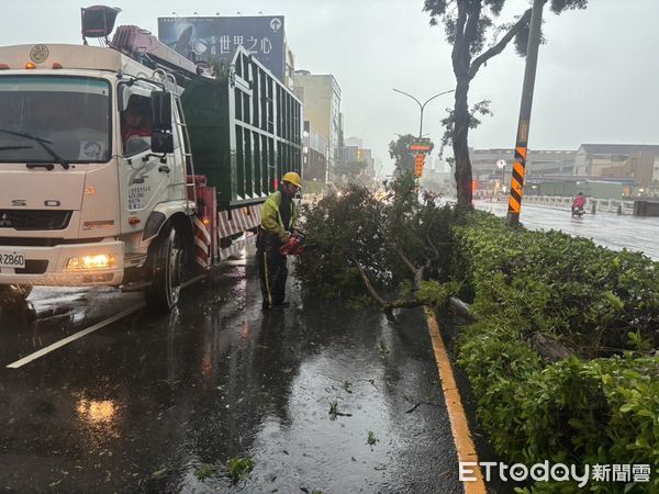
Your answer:
[[[115,49],[0,47],[0,297],[142,282],[176,304],[196,204],[172,86]]]

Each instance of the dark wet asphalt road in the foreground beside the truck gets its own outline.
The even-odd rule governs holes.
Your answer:
[[[141,295],[41,289],[34,312],[0,313],[0,491],[462,492],[422,311],[390,324],[289,282],[292,307],[264,315],[248,252],[170,316],[138,311],[20,369]]]

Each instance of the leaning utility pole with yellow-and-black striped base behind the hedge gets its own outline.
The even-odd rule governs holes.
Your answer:
[[[543,7],[547,0],[534,0],[530,14],[530,31],[528,33],[528,47],[526,49],[526,68],[524,69],[524,85],[522,87],[522,104],[520,106],[520,123],[517,125],[517,141],[515,144],[515,162],[511,176],[511,195],[509,199],[509,225],[520,224],[522,210],[522,195],[524,189],[524,175],[526,172],[526,155],[528,149],[528,125],[530,109],[533,106],[533,91],[535,75],[538,65],[538,48],[540,45],[540,27],[543,25]]]

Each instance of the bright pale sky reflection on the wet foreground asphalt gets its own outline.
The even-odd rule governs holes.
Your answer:
[[[288,423],[268,416],[255,439],[257,484],[269,481],[279,492],[348,492],[372,489],[386,478],[400,441],[383,390],[360,375],[384,386],[380,366],[346,361],[333,351],[302,363],[291,385]]]

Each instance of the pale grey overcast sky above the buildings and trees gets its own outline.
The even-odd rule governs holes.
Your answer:
[[[80,43],[80,3],[0,0],[0,45]],[[455,87],[450,46],[431,27],[423,0],[158,0],[109,1],[118,24],[157,33],[157,18],[283,14],[299,69],[333,74],[343,91],[346,137],[364,138],[388,168],[395,133],[418,132],[420,100]],[[502,20],[523,12],[509,0]],[[147,7],[148,5],[148,7]],[[529,148],[576,149],[581,143],[659,144],[659,0],[591,0],[585,11],[545,12]],[[0,60],[1,61],[1,60]],[[493,117],[470,134],[473,147],[513,147],[523,60],[512,46],[472,82],[470,103],[492,100]],[[424,134],[438,142],[453,96],[426,108]]]

